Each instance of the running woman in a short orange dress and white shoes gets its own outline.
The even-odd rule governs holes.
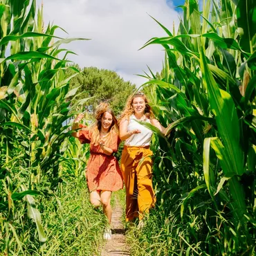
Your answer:
[[[117,152],[120,139],[118,137],[118,121],[107,103],[101,103],[96,109],[95,122],[90,127],[79,125],[84,114],[74,120],[72,129],[81,128],[72,136],[81,143],[90,143],[90,157],[87,163],[86,180],[90,191],[90,201],[95,207],[103,206],[109,224],[112,209],[111,192],[122,189],[122,174],[114,152]],[[104,239],[111,239],[111,229],[106,228]]]

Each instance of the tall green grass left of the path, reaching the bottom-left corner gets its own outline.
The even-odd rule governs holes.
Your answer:
[[[46,250],[44,253],[38,250],[39,240],[33,221],[26,221],[24,226],[15,221],[12,223],[15,229],[24,230],[19,239],[22,250],[11,239],[8,255],[100,255],[107,220],[102,210],[95,210],[89,202],[83,176],[64,179],[62,190],[44,197],[38,208],[42,212],[42,226],[47,237]]]

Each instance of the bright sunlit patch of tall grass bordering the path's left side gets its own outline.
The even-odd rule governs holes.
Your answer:
[[[68,176],[59,193],[40,206],[48,237],[46,255],[98,255],[107,220],[91,205],[84,176]]]

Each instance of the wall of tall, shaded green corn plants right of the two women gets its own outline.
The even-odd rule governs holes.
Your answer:
[[[158,119],[173,122],[167,138],[154,129],[159,207],[190,223],[176,231],[181,253],[253,255],[256,6],[204,0],[199,10],[191,0],[181,8],[177,33],[156,21],[167,36],[145,44],[165,49],[163,71],[149,69],[144,87]]]

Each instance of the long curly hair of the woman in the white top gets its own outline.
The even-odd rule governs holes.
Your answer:
[[[153,119],[155,118],[154,113],[152,111],[152,107],[150,107],[149,105],[149,100],[147,99],[147,96],[142,93],[141,91],[138,91],[132,95],[129,96],[126,104],[125,104],[125,109],[124,111],[122,111],[120,118],[118,120],[118,122],[120,122],[120,120],[122,120],[122,118],[126,118],[127,120],[129,120],[130,116],[132,114],[134,114],[134,107],[132,106],[132,103],[134,102],[135,98],[143,98],[143,100],[145,100],[145,116],[148,119]]]

